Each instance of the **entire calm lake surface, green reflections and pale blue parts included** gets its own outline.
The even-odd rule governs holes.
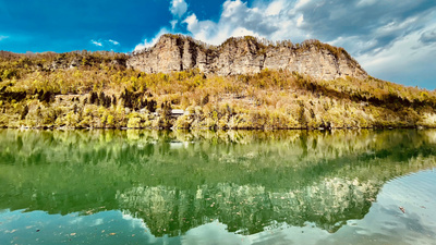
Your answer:
[[[0,244],[436,244],[436,131],[0,130]]]

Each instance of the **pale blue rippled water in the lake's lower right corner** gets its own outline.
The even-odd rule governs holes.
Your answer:
[[[436,244],[436,172],[434,169],[388,182],[359,226],[389,237],[399,244]]]

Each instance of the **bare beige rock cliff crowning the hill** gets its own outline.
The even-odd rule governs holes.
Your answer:
[[[342,48],[317,40],[301,45],[263,44],[254,37],[230,38],[217,47],[182,35],[164,35],[154,47],[134,52],[126,64],[146,73],[198,69],[206,74],[226,76],[270,69],[295,71],[322,79],[367,76]]]

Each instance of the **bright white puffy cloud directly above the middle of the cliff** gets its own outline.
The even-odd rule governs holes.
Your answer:
[[[247,7],[241,0],[227,0],[222,4],[222,12],[218,22],[198,20],[195,13],[182,22],[195,39],[219,45],[231,36],[251,35],[272,40],[298,39],[303,40],[305,34],[298,28],[298,19],[301,15],[288,15],[290,4],[283,0],[269,3],[257,2]],[[265,11],[263,11],[265,10]]]

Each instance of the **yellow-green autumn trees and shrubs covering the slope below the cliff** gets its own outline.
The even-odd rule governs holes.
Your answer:
[[[374,77],[317,81],[288,71],[145,74],[114,52],[0,52],[0,126],[434,127],[436,91]],[[185,114],[172,117],[171,109]]]

